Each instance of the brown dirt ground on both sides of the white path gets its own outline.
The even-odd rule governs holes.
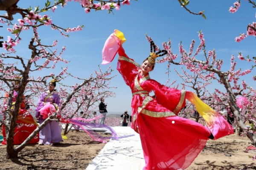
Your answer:
[[[0,131],[2,131],[0,129]],[[0,133],[1,134],[1,133]],[[29,145],[16,159],[5,159],[6,146],[0,146],[1,170],[85,170],[104,147],[83,131],[67,134],[69,139],[54,146]],[[206,147],[186,170],[255,170],[253,153],[243,150],[250,146],[247,137],[227,136],[209,140]]]

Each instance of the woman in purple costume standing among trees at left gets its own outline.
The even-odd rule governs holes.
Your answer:
[[[55,93],[55,87],[56,80],[52,79],[52,81],[49,82],[49,90],[47,92],[44,92],[38,101],[38,108],[36,108],[35,117],[39,119],[40,124],[43,123],[45,119],[47,119],[46,115],[42,114],[42,111],[44,109],[47,110],[47,106],[55,108],[55,111],[58,110],[58,105],[60,104],[60,97],[57,93]],[[43,129],[40,130],[38,143],[39,145],[53,145],[61,141],[61,127],[58,125],[57,121],[49,122]]]

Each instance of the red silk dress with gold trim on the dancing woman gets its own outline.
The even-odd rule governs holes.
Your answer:
[[[185,169],[204,148],[210,130],[176,116],[185,105],[186,91],[168,88],[140,75],[140,65],[119,48],[117,70],[133,95],[131,127],[140,133],[144,170]],[[149,96],[154,91],[155,99]]]

